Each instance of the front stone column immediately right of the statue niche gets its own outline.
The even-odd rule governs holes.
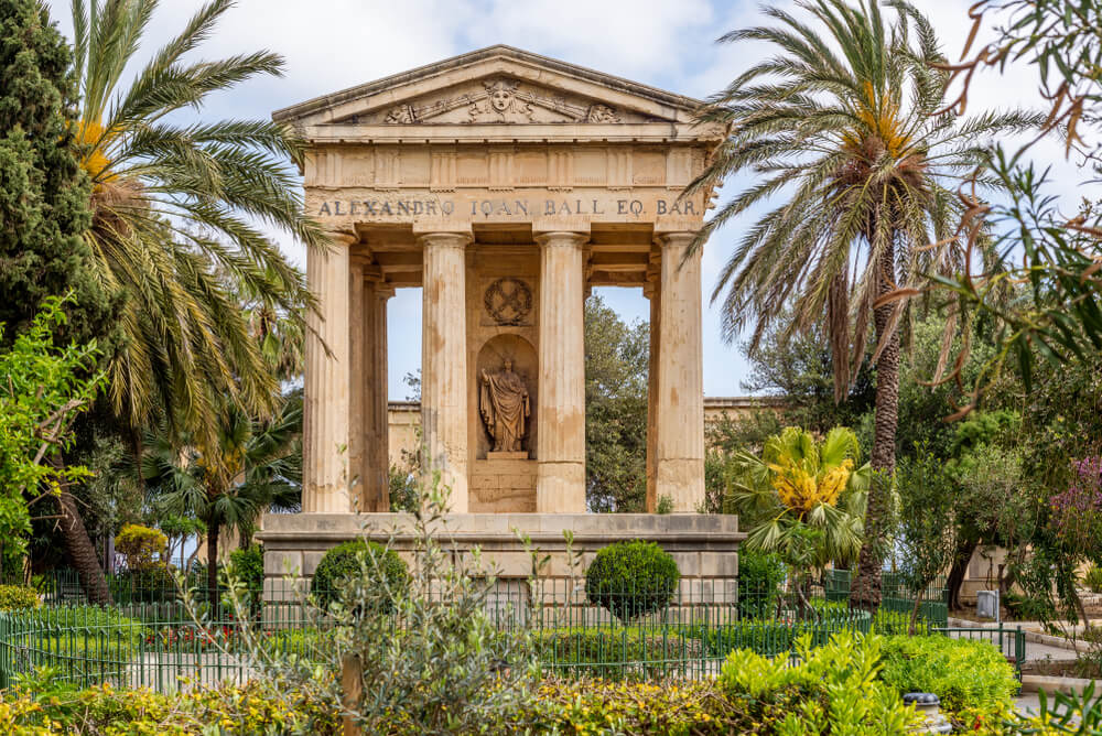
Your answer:
[[[540,382],[536,510],[585,512],[584,258],[588,232],[549,230],[540,243]]]

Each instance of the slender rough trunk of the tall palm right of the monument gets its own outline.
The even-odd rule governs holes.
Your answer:
[[[889,239],[880,253],[880,295],[896,288],[895,247]],[[899,422],[899,331],[890,328],[893,304],[873,312],[877,345],[883,345],[876,360],[876,408],[873,421],[873,478],[865,510],[865,541],[857,558],[857,578],[851,591],[852,606],[875,610],[880,605],[880,569],[887,552],[887,526],[892,509],[892,479],[895,475],[896,425]]]

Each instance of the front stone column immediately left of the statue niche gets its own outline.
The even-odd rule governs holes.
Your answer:
[[[422,464],[439,470],[451,488],[451,510],[466,513],[467,498],[467,321],[464,230],[421,231],[424,249],[421,328]]]

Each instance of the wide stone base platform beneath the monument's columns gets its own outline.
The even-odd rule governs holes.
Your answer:
[[[576,564],[566,554],[563,532],[573,534]],[[579,582],[601,548],[622,540],[657,542],[673,555],[681,570],[680,600],[689,604],[733,603],[737,598],[738,531],[735,516],[699,513],[454,513],[434,530],[436,540],[452,550],[456,561],[482,551],[484,567],[495,573],[510,595],[527,597],[532,556],[521,534],[540,556],[543,597],[562,602]],[[304,585],[329,548],[363,537],[389,543],[409,559],[414,545],[412,517],[408,513],[273,513],[264,517],[259,538],[264,545],[264,597],[283,598]],[[584,596],[584,593],[583,593]]]

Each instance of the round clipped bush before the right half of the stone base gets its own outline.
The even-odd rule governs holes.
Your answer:
[[[622,621],[663,608],[678,589],[681,572],[653,542],[616,542],[599,550],[585,571],[585,595]]]

